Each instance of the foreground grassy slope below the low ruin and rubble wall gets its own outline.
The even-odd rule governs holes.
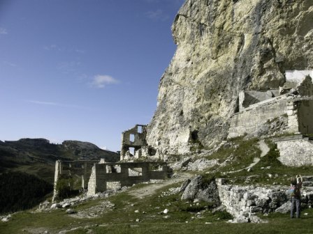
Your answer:
[[[115,203],[115,209],[95,219],[74,219],[65,214],[64,210],[20,212],[9,222],[0,223],[0,233],[57,233],[79,226],[82,228],[70,233],[86,233],[85,226],[93,226],[89,229],[94,233],[312,233],[313,230],[312,209],[304,210],[303,213],[308,214],[303,215],[302,219],[290,219],[289,214],[270,214],[263,217],[268,219],[268,224],[228,224],[226,221],[229,217],[224,213],[212,214],[205,203],[196,205],[180,201],[178,194],[164,196],[166,191],[168,187],[143,199],[129,196],[126,192],[117,194],[107,198]],[[78,205],[75,210],[79,212],[98,205],[101,201],[89,201]],[[160,214],[165,208],[169,210],[168,214]],[[197,218],[198,212],[201,212],[201,217]],[[165,218],[166,215],[169,216],[168,219]],[[140,222],[136,222],[136,219],[140,219]],[[205,224],[206,222],[211,224]]]

